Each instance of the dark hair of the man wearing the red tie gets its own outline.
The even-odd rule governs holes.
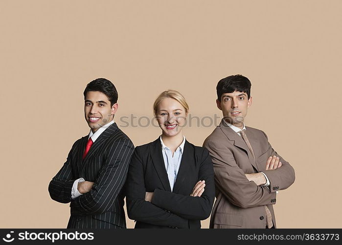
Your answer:
[[[87,92],[99,91],[104,93],[108,100],[111,101],[111,107],[117,102],[117,91],[114,84],[106,78],[97,78],[87,84],[86,89],[83,92],[84,99],[86,99]]]

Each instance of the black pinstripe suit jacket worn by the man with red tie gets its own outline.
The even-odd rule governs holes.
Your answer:
[[[77,140],[62,169],[50,181],[48,191],[55,201],[70,202],[68,228],[126,227],[123,185],[134,150],[132,141],[113,123],[82,155],[88,136]],[[90,192],[71,199],[78,178],[94,182]],[[114,224],[114,225],[113,225]]]

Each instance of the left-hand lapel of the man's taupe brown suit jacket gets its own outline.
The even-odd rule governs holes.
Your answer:
[[[246,142],[242,139],[242,137],[240,135],[238,135],[233,129],[231,129],[228,125],[226,125],[224,122],[223,122],[224,119],[222,119],[219,127],[221,128],[222,132],[227,136],[227,138],[230,140],[230,141],[234,141],[234,146],[236,147],[239,147],[239,148],[242,148],[246,151],[247,153],[247,156],[248,156],[248,159],[250,160],[250,163],[251,165],[253,166],[253,168],[255,170],[257,170],[256,168],[256,164],[255,164],[255,161],[254,161],[254,158],[253,158],[253,155],[250,151],[250,149],[247,147],[246,145]],[[246,130],[247,131],[247,130]],[[247,135],[247,133],[246,133]],[[249,136],[247,135],[248,137],[248,140],[250,141],[251,143],[251,140],[249,138]],[[255,144],[254,144],[255,145]],[[254,148],[253,148],[253,145],[251,144],[252,146],[252,149],[253,149],[253,152],[254,152]],[[255,152],[254,152],[255,154]]]

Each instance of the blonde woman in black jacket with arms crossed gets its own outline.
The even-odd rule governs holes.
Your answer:
[[[135,228],[201,228],[215,196],[209,153],[183,136],[189,106],[179,92],[162,92],[153,109],[161,135],[135,148],[126,181],[128,217]]]

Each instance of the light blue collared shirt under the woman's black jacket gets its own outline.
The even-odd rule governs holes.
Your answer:
[[[173,191],[173,186],[175,185],[179,167],[181,166],[182,155],[185,145],[185,136],[183,136],[182,144],[177,147],[176,151],[173,153],[169,147],[165,146],[160,135],[161,152],[164,159],[165,169],[167,176],[169,178],[169,183],[171,191]]]

